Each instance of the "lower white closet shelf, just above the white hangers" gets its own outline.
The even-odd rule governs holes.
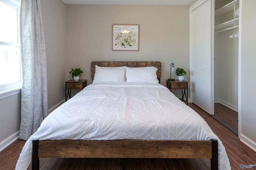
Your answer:
[[[214,27],[215,33],[224,32],[238,28],[239,18],[224,22]]]

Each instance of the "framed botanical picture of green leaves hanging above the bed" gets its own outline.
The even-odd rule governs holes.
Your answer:
[[[140,25],[113,24],[112,51],[139,51]]]

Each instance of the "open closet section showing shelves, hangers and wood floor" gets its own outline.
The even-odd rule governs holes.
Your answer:
[[[239,0],[215,0],[214,118],[238,134]]]

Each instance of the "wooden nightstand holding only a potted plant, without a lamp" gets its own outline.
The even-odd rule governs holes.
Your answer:
[[[68,81],[65,81],[65,83],[66,83],[66,93],[65,93],[66,100],[65,101],[67,101],[68,97],[69,99],[71,98],[71,89],[78,89],[78,90],[84,89],[84,87],[86,87],[87,80],[78,80],[78,81],[68,80]]]

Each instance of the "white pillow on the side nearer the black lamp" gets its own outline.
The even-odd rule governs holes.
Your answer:
[[[159,83],[156,67],[128,67],[126,69],[126,82]]]

